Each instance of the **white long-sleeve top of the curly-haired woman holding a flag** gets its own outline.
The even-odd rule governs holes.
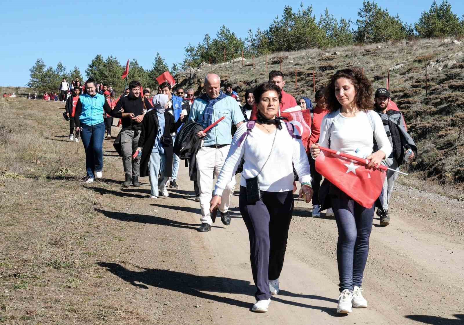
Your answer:
[[[369,119],[374,122],[372,125]],[[390,156],[392,145],[379,114],[374,111],[360,111],[354,117],[344,117],[337,110],[322,119],[319,137],[321,147],[366,158],[372,153],[374,138],[379,150],[385,152],[386,157]]]

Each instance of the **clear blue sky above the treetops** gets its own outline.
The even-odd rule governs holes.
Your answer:
[[[441,1],[438,1],[441,2]],[[453,12],[464,13],[464,1],[449,0]],[[169,67],[181,62],[184,47],[206,33],[215,36],[226,25],[238,37],[248,29],[266,29],[284,6],[296,10],[301,0],[233,1],[12,1],[3,0],[0,30],[0,86],[24,86],[29,68],[41,57],[47,66],[61,61],[68,70],[85,69],[97,54],[116,56],[121,63],[136,58],[150,69],[156,52]],[[414,23],[432,0],[378,0],[391,14]],[[134,4],[137,4],[135,6]],[[303,1],[319,17],[325,8],[336,18],[357,19],[362,0]],[[355,26],[353,26],[354,28]]]

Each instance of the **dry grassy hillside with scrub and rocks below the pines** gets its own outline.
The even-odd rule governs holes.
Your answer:
[[[363,68],[374,89],[386,87],[390,69],[392,99],[405,116],[409,132],[419,147],[419,155],[408,169],[420,178],[444,184],[464,183],[464,46],[445,39],[380,43],[329,50],[307,49],[267,56],[268,72],[280,70],[286,76],[285,91],[298,100],[314,99],[316,90],[338,69]],[[176,76],[180,85],[201,90],[207,73],[232,82],[242,95],[245,89],[267,80],[264,56],[236,63],[205,64]],[[425,66],[428,96],[425,94]],[[393,68],[394,67],[394,68]],[[393,69],[392,69],[393,68]],[[295,87],[295,71],[297,87]]]

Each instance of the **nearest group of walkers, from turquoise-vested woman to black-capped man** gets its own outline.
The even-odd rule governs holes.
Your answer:
[[[385,164],[399,170],[401,162],[417,154],[417,147],[388,90],[379,88],[374,95],[360,69],[337,71],[326,87],[316,92],[316,106],[306,97],[296,102],[284,92],[284,85],[284,75],[271,71],[269,81],[245,92],[241,106],[230,85],[225,92],[221,90],[219,75],[206,75],[204,94],[194,100],[174,95],[167,82],[160,85],[159,94],[150,97],[148,92],[145,96],[140,83],[131,81],[128,95],[112,106],[97,93],[90,78],[85,83],[86,94],[75,92],[76,104],[74,99],[67,103],[66,111],[72,113],[82,137],[88,183],[102,177],[103,113],[122,119],[118,137],[124,186],[140,186],[139,177],[149,176],[150,197],[157,198],[159,192],[168,196],[169,176],[174,180],[170,185],[174,182],[177,186],[174,171],[177,176],[178,167],[174,166],[178,166],[179,156],[188,159],[190,175],[198,186],[200,232],[211,231],[218,212],[221,221],[230,225],[235,174],[241,171],[238,204],[249,233],[251,271],[257,287],[255,312],[267,312],[271,295],[279,292],[297,176],[299,197],[313,202],[312,216],[319,216],[322,208],[331,208],[335,215],[340,280],[337,312],[367,307],[361,285],[374,211],[377,206],[381,225],[389,224],[389,200],[397,175],[387,174],[378,202],[366,208],[333,184],[322,198],[322,177],[315,159],[321,154],[320,147],[326,147],[367,159],[367,169]],[[306,148],[298,130],[281,117],[297,105],[311,111]]]

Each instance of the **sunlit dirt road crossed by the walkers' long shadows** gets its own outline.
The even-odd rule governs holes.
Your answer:
[[[112,172],[104,177],[121,181],[121,158],[111,144],[105,141],[105,170]],[[231,225],[218,219],[200,233],[200,205],[183,162],[180,187],[170,188],[168,198],[150,199],[148,177],[142,184],[123,189],[109,181],[96,191],[99,212],[129,223],[118,258],[99,265],[109,272],[108,287],[122,288],[107,289],[105,297],[143,311],[154,324],[464,323],[462,201],[397,186],[391,225],[374,219],[363,283],[369,306],[338,316],[335,220],[309,217],[310,205],[297,200],[281,291],[269,312],[257,314],[250,311],[255,288],[237,195]]]

